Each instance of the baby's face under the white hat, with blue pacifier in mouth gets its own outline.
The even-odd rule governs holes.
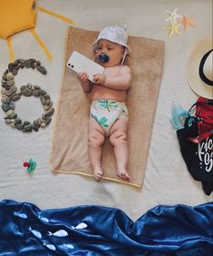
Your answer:
[[[96,55],[106,54],[109,57],[109,62],[102,63],[98,60],[99,64],[104,67],[121,64],[124,54],[124,47],[120,44],[112,43],[108,40],[100,40],[96,49]]]

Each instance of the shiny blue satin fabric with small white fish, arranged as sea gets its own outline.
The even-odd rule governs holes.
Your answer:
[[[156,206],[136,222],[121,210],[76,206],[41,211],[0,202],[0,255],[212,256],[213,202]]]

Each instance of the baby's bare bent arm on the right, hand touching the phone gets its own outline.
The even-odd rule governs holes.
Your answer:
[[[131,69],[124,65],[119,76],[108,77],[106,74],[95,74],[93,80],[95,83],[110,89],[127,90],[131,87]]]

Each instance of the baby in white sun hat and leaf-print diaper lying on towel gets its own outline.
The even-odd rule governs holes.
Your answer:
[[[88,154],[94,179],[102,178],[102,145],[109,137],[117,165],[117,176],[129,182],[127,172],[128,109],[124,103],[131,87],[131,69],[123,65],[130,54],[127,32],[118,25],[104,27],[92,44],[94,60],[104,67],[103,74],[95,74],[93,83],[88,74],[78,73],[82,90],[90,93],[91,115],[88,123]]]

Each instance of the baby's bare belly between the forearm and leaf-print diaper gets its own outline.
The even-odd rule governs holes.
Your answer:
[[[126,98],[126,91],[111,90],[103,86],[94,85],[90,94],[91,101],[111,100],[123,103]]]

